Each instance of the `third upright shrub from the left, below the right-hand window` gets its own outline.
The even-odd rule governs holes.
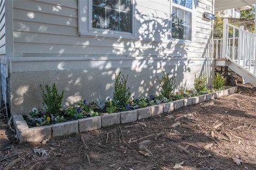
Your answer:
[[[176,87],[174,84],[176,82],[175,80],[175,76],[171,77],[170,78],[170,73],[165,73],[163,70],[162,70],[164,76],[159,79],[157,77],[157,82],[159,83],[159,86],[161,88],[160,90],[160,94],[169,99],[171,96],[172,96],[172,91],[173,89]]]

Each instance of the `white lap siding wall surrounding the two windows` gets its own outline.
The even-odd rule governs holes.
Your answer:
[[[78,1],[13,2],[16,56],[186,56],[210,57],[212,0],[196,7],[196,39],[183,44],[168,40],[170,0],[137,0],[135,25],[140,40],[78,36]],[[2,33],[2,32],[1,32]]]

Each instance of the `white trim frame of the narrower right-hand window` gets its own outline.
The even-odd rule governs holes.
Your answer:
[[[170,35],[171,35],[171,41],[179,41],[180,43],[191,43],[196,41],[196,6],[197,6],[197,0],[192,1],[192,9],[187,8],[185,6],[181,6],[178,4],[175,4],[171,0],[170,5]],[[184,39],[178,39],[178,38],[172,38],[172,7],[180,8],[181,10],[191,12],[191,40],[184,40]]]

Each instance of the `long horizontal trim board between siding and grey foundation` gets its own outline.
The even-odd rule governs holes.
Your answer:
[[[184,58],[184,57],[18,57],[10,58],[10,74],[14,72],[31,71],[64,71],[99,69],[107,71],[115,68],[149,68],[159,65],[202,65],[213,58]]]

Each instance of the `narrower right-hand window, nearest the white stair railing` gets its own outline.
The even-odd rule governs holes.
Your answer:
[[[172,38],[191,40],[192,1],[172,1]]]

